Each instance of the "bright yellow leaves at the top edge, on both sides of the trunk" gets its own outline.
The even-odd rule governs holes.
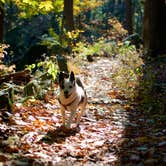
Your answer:
[[[64,1],[63,0],[12,0],[14,4],[21,10],[21,17],[30,17],[32,15],[36,15],[38,13],[47,13],[50,11],[62,12]],[[81,12],[86,12],[92,10],[100,5],[102,5],[103,1],[98,0],[74,0],[73,11],[74,15],[77,16]]]

